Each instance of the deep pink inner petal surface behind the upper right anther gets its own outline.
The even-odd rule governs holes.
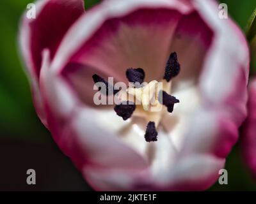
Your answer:
[[[183,84],[188,82],[189,87],[198,83],[212,38],[212,30],[197,12],[181,18],[170,51],[177,52],[181,66],[179,75],[173,79],[173,90],[184,89]]]

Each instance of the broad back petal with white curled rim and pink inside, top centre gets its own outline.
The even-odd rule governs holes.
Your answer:
[[[152,8],[154,8],[154,10],[152,10]],[[158,9],[156,10],[156,8]],[[143,13],[143,15],[136,12],[136,10],[139,9],[144,10],[144,12],[141,12]],[[63,43],[61,43],[60,49],[58,50],[56,59],[54,59],[52,66],[54,66],[54,69],[62,69],[65,64],[67,64],[67,61],[70,61],[75,54],[76,59],[79,60],[82,54],[79,51],[85,49],[84,46],[92,44],[97,48],[104,48],[106,49],[106,51],[115,54],[113,55],[115,56],[115,61],[122,59],[126,63],[127,61],[131,61],[130,63],[134,66],[145,65],[145,62],[143,63],[143,61],[147,62],[148,59],[145,59],[145,56],[136,56],[136,54],[138,54],[137,49],[142,49],[141,51],[143,52],[140,52],[140,55],[144,52],[148,56],[156,54],[152,57],[157,59],[157,56],[159,56],[159,54],[157,54],[156,51],[153,53],[148,53],[147,48],[154,48],[154,50],[156,49],[159,51],[161,51],[161,48],[164,48],[164,50],[166,50],[166,45],[163,45],[163,43],[168,43],[168,41],[170,41],[170,39],[172,38],[173,29],[175,29],[177,20],[179,20],[180,13],[188,13],[190,9],[191,8],[188,4],[177,0],[105,1],[102,4],[99,4],[99,6],[96,6],[93,10],[88,11],[86,15],[84,15],[76,23],[76,25],[72,27],[72,29],[68,32],[67,36],[65,36]],[[171,12],[170,14],[170,12],[166,12],[166,10],[173,10],[173,12]],[[163,11],[163,14],[161,15],[161,12],[159,11]],[[154,17],[154,14],[156,14],[156,17]],[[110,19],[111,21],[109,21]],[[136,19],[136,21],[134,21],[134,19]],[[164,25],[170,26],[163,29]],[[131,29],[134,29],[134,31],[132,31]],[[141,35],[143,37],[146,37],[147,39],[149,37],[152,37],[152,35],[148,33],[150,31],[152,31],[153,34],[156,34],[156,39],[159,40],[159,46],[157,46],[155,38],[150,38],[148,41],[148,45],[145,45],[145,43],[143,43],[144,40],[142,40],[142,42],[140,41]],[[162,31],[163,33],[161,33]],[[167,33],[168,31],[171,32],[168,33],[167,37],[164,33]],[[100,37],[100,39],[95,39],[95,37],[93,37],[95,34],[97,34],[97,37]],[[118,38],[116,40],[114,37],[119,37],[119,40]],[[108,39],[108,41],[111,41],[108,43],[106,39]],[[102,43],[103,45],[99,45],[100,43]],[[122,45],[120,45],[120,43],[122,43]],[[129,43],[131,43],[131,46],[129,46]],[[138,43],[138,45],[136,45],[136,43]],[[113,45],[115,45],[116,47],[114,47]],[[143,49],[141,45],[146,47],[144,47]],[[90,46],[88,48],[92,49],[93,47]],[[117,48],[119,48],[121,51],[125,51],[124,54],[127,54],[125,59],[124,56],[120,56],[118,50],[116,50]],[[87,52],[87,50],[83,51]],[[94,52],[97,52],[96,48]],[[118,57],[121,57],[121,59],[118,59]],[[138,62],[138,64],[134,64],[134,62],[132,61],[134,57],[137,58],[136,62]],[[164,57],[167,59],[167,56]],[[108,59],[109,57],[106,57],[105,54],[103,54],[102,56],[99,55],[97,60],[105,60],[106,62],[110,63]],[[161,57],[161,59],[163,59],[163,57]],[[82,61],[82,59],[80,59],[80,61]],[[84,62],[86,62],[86,59],[84,59]],[[165,62],[166,61],[162,63],[165,64]],[[93,61],[93,63],[95,63],[95,61]],[[92,64],[89,65],[93,66]],[[125,68],[122,68],[122,66],[125,65],[122,63],[120,64],[120,67],[117,67],[114,64],[114,68],[112,67],[113,64],[109,65],[111,66],[108,67],[108,69],[114,69],[114,71],[118,71],[118,69],[123,69],[126,71],[127,68],[131,67],[125,66]],[[148,66],[150,66],[150,64],[148,64]],[[93,67],[100,68],[100,66]]]

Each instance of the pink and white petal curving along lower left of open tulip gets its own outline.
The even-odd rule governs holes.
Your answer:
[[[47,55],[47,51],[44,53]],[[148,167],[147,161],[122,143],[113,129],[109,131],[97,122],[97,110],[79,103],[67,82],[47,66],[40,73],[40,91],[54,140],[79,169],[85,164],[126,170]]]

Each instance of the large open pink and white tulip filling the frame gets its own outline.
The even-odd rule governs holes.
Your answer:
[[[36,112],[93,189],[204,190],[218,180],[246,117],[249,54],[215,1],[36,6],[19,39]],[[124,82],[141,105],[95,105],[98,82],[108,91]],[[140,94],[160,82],[161,99],[150,100],[162,108],[150,112]]]

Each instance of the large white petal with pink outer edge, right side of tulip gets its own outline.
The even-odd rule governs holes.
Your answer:
[[[200,108],[190,116],[183,143],[179,142],[180,151],[176,159],[182,163],[191,155],[211,156],[212,164],[216,166],[212,167],[212,177],[207,176],[216,179],[221,166],[218,161],[223,166],[223,158],[236,143],[238,128],[246,117],[249,52],[241,31],[230,21],[220,21],[215,13],[218,13],[218,6],[213,1],[191,2],[212,29],[214,36],[200,76]],[[234,46],[239,46],[239,49]],[[232,100],[236,102],[230,103]],[[172,133],[170,135],[172,137]],[[200,164],[207,167],[204,161]],[[170,174],[170,183],[173,179],[171,172],[167,173]],[[168,182],[166,175],[163,177]],[[211,184],[213,182],[214,179]]]

